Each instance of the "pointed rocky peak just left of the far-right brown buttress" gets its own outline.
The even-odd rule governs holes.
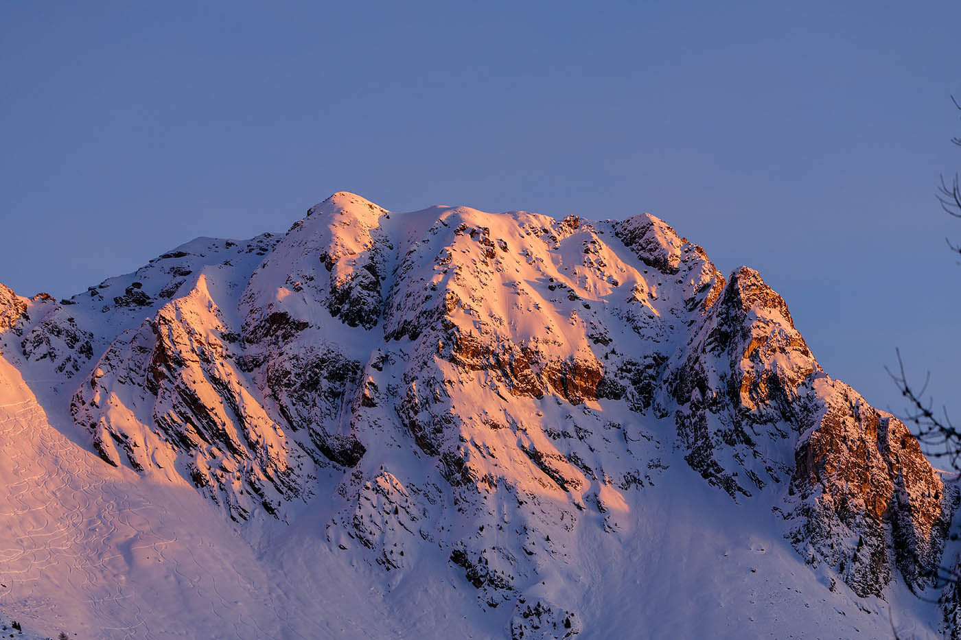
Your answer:
[[[778,441],[796,436],[807,385],[821,368],[757,272],[731,274],[676,361],[667,392],[691,466],[732,497],[790,478]]]

